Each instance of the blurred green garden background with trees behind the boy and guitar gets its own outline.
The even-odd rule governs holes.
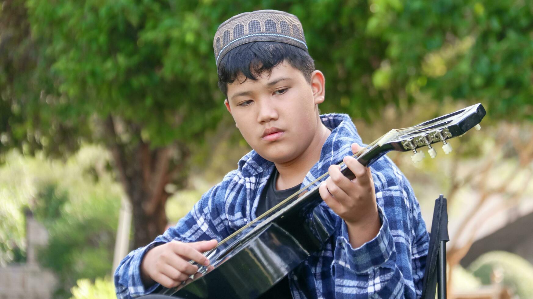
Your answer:
[[[49,232],[38,260],[59,278],[54,297],[114,296],[122,198],[133,214],[129,249],[146,245],[249,150],[223,106],[212,50],[220,23],[246,11],[300,18],[326,76],[321,112],[349,114],[367,143],[473,103],[486,107],[483,130],[452,140],[451,155],[413,165],[409,153],[389,153],[428,225],[433,199],[449,199],[450,296],[495,282],[476,270],[483,261],[460,266],[489,234],[482,228],[531,211],[529,0],[1,3],[0,264],[26,261],[30,211]],[[530,271],[533,256],[522,256],[522,269],[506,269]],[[514,294],[533,294],[508,281]]]

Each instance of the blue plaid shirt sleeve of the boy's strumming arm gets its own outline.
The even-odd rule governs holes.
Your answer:
[[[224,194],[229,174],[224,180],[204,193],[192,210],[177,224],[167,229],[152,243],[128,254],[115,270],[115,292],[119,299],[147,295],[159,286],[144,287],[141,281],[140,266],[144,255],[155,246],[172,240],[195,242],[216,239],[220,241],[229,235],[226,214],[224,213]]]

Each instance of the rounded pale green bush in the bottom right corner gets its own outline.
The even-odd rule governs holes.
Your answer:
[[[494,272],[503,276],[503,284],[520,298],[533,298],[533,265],[519,255],[494,251],[478,257],[469,270],[484,285],[491,284]]]

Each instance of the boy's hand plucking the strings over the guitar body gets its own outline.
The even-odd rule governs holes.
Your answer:
[[[156,282],[167,288],[179,286],[198,272],[198,267],[189,264],[189,261],[209,265],[209,260],[201,253],[213,249],[216,244],[216,240],[193,243],[173,240],[148,250],[141,262],[144,286],[150,287]]]

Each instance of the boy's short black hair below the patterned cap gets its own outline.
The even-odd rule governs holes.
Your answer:
[[[228,96],[228,84],[235,82],[242,74],[246,79],[257,80],[266,72],[283,61],[300,70],[308,83],[314,71],[314,61],[308,52],[280,42],[251,42],[242,44],[229,51],[219,62],[219,88]]]

